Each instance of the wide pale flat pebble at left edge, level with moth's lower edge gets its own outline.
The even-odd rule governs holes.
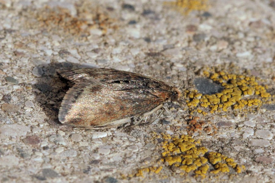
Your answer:
[[[18,124],[3,125],[0,127],[2,134],[12,137],[27,135],[29,131],[30,127]]]

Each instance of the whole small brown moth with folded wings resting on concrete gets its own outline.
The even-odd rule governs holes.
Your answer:
[[[133,72],[106,68],[59,69],[74,85],[61,103],[58,118],[67,126],[108,128],[137,115],[149,115],[181,95],[175,86]]]

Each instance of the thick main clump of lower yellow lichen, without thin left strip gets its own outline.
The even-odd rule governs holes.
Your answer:
[[[165,150],[165,153],[162,153],[162,162],[165,162],[168,166],[173,165],[174,168],[187,173],[194,170],[195,177],[200,176],[202,178],[206,176],[209,169],[207,163],[213,165],[215,170],[211,171],[211,173],[215,174],[218,172],[229,172],[229,166],[235,168],[238,173],[242,170],[232,158],[223,156],[218,152],[209,152],[207,158],[205,158],[204,155],[208,152],[207,148],[196,147],[196,144],[200,144],[200,141],[196,142],[188,135],[172,137],[171,140],[171,142],[162,142],[162,147]],[[171,147],[169,151],[167,151],[167,147]],[[178,149],[180,149],[180,152]]]

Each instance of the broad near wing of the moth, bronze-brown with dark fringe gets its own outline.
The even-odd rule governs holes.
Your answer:
[[[129,85],[77,82],[66,93],[59,112],[61,123],[73,127],[111,127],[163,104],[153,89],[129,89]]]

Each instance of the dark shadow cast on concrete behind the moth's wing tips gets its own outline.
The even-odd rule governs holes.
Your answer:
[[[58,120],[59,108],[65,93],[72,86],[72,83],[59,76],[56,70],[83,67],[87,66],[68,62],[51,62],[34,68],[38,76],[41,76],[37,77],[36,83],[32,85],[35,100],[41,105],[41,109],[47,116],[46,121],[50,125],[61,126]]]

